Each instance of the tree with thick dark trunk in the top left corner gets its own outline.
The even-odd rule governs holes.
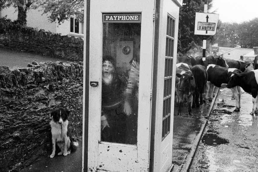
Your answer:
[[[17,23],[26,25],[27,10],[30,8],[34,0],[1,0],[0,10],[13,6],[18,11]]]

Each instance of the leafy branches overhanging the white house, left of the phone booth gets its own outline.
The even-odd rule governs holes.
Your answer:
[[[68,20],[71,15],[83,21],[84,0],[37,0],[33,8],[42,7],[43,14],[48,15],[51,22],[58,21],[58,24]]]

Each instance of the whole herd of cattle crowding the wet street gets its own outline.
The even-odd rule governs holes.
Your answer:
[[[258,56],[255,58],[257,59]],[[256,60],[257,61],[257,60]],[[255,66],[255,68],[253,67]],[[209,55],[178,56],[176,64],[175,95],[178,100],[178,115],[181,115],[183,103],[188,103],[188,113],[205,101],[212,101],[215,86],[230,88],[236,101],[234,111],[240,111],[241,88],[253,97],[253,109],[250,114],[258,113],[258,65],[254,62],[225,59]],[[254,70],[257,69],[257,70]],[[202,93],[205,93],[203,99]],[[208,95],[210,95],[208,97]],[[191,106],[191,98],[193,102]],[[199,103],[200,99],[200,103]]]

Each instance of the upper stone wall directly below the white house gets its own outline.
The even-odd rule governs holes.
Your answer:
[[[20,26],[0,18],[0,47],[83,61],[83,39]]]

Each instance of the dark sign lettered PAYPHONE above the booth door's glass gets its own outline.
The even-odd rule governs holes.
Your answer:
[[[103,23],[141,23],[141,14],[103,14]]]

